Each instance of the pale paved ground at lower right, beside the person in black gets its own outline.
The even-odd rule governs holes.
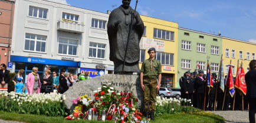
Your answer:
[[[211,111],[221,115],[226,119],[226,122],[249,122],[249,111]]]

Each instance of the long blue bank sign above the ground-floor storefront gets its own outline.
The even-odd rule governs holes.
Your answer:
[[[67,60],[55,60],[55,59],[42,59],[38,57],[11,56],[11,61],[80,67],[80,62],[73,62],[73,61],[67,61]]]

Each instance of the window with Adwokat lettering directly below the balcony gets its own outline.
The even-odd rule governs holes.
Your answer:
[[[60,37],[58,40],[58,53],[77,56],[77,44],[78,40]]]

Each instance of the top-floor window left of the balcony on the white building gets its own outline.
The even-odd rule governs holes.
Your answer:
[[[48,9],[29,6],[28,16],[34,16],[35,18],[47,19],[47,13],[48,13]]]

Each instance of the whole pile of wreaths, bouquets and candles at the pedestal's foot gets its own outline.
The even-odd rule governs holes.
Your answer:
[[[102,121],[108,119],[117,122],[149,121],[149,119],[143,118],[142,113],[138,110],[138,99],[133,93],[116,93],[116,90],[110,85],[111,83],[103,83],[102,87],[94,91],[94,100],[90,100],[87,95],[75,98],[73,103],[77,104],[77,107],[73,114],[66,118]]]

